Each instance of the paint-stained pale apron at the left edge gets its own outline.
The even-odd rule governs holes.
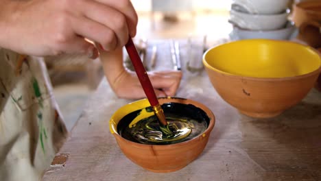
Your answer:
[[[0,180],[40,180],[66,137],[43,60],[0,48]]]

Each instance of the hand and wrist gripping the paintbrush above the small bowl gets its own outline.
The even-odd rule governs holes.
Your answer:
[[[97,56],[88,40],[114,50],[135,36],[136,25],[130,0],[1,0],[0,47],[32,56]]]

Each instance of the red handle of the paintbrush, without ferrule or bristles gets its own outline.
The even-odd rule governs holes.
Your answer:
[[[125,45],[125,47],[130,60],[132,60],[132,65],[134,66],[136,74],[139,77],[139,82],[141,82],[141,86],[143,87],[145,95],[147,96],[148,101],[150,101],[150,105],[158,105],[159,103],[154,92],[154,88],[152,86],[152,83],[150,82],[150,78],[147,75],[145,67],[143,66],[143,62],[141,62],[139,53],[137,52],[136,47],[132,42],[132,38],[129,38],[128,43]]]

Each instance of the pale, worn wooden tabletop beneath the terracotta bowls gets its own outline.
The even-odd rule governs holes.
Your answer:
[[[158,43],[158,50],[159,69],[171,69],[167,43]],[[202,102],[217,119],[198,159],[176,172],[153,173],[126,158],[108,121],[132,100],[118,99],[103,80],[56,157],[62,165],[52,166],[43,180],[321,180],[321,93],[311,90],[278,117],[247,117],[217,95],[204,71],[186,71],[186,54],[182,46],[177,97]]]

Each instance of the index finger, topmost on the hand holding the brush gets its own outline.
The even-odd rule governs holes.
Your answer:
[[[104,3],[105,5],[109,5],[112,8],[115,8],[122,14],[126,16],[126,21],[129,28],[129,34],[131,37],[136,35],[136,27],[138,23],[138,16],[136,11],[134,10],[134,6],[132,5],[130,0],[95,0],[100,3]]]

